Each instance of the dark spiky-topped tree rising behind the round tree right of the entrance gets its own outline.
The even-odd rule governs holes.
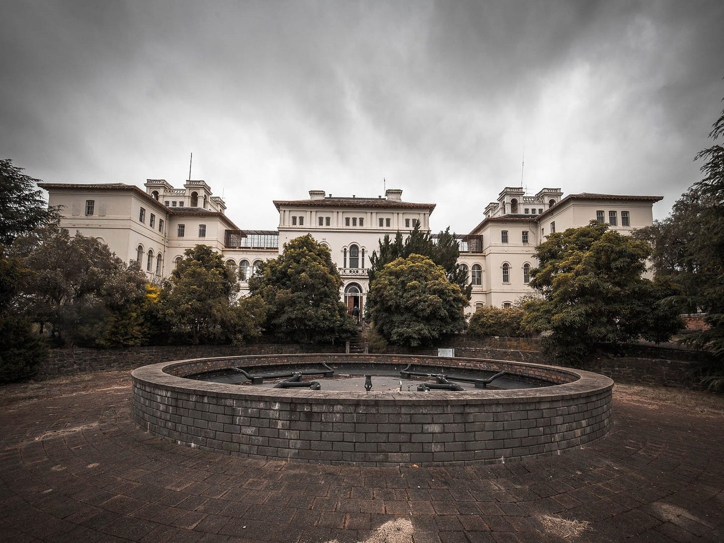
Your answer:
[[[463,295],[470,300],[473,285],[468,284],[466,271],[458,266],[460,246],[455,234],[450,233],[450,227],[447,227],[445,232],[440,232],[437,235],[437,240],[432,237],[430,232],[420,230],[419,223],[415,225],[415,228],[405,240],[403,240],[403,235],[399,231],[395,235],[395,240],[392,240],[389,234],[385,234],[384,238],[379,240],[379,248],[377,251],[373,251],[369,259],[370,269],[368,275],[370,282],[374,281],[377,271],[381,270],[386,264],[390,264],[396,258],[407,258],[412,254],[426,256],[438,266],[442,266],[445,269],[447,279],[458,285]]]

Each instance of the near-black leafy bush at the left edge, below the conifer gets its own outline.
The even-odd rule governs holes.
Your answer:
[[[44,338],[33,331],[29,319],[14,311],[12,303],[28,272],[20,258],[7,256],[0,246],[0,383],[33,376],[48,358]]]

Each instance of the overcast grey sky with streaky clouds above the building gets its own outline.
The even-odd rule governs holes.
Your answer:
[[[505,186],[663,195],[722,109],[724,2],[1,1],[0,158],[49,182],[203,179],[274,199],[437,203]]]

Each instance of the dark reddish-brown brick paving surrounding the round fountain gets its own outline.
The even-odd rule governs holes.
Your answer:
[[[92,384],[4,402],[1,540],[724,541],[720,414],[615,394],[605,439],[544,460],[329,466],[164,442],[130,421],[129,376]]]

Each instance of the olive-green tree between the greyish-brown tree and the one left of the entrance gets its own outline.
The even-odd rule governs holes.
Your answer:
[[[209,245],[196,245],[184,252],[158,303],[171,329],[194,345],[242,342],[260,332],[263,315],[257,315],[256,301],[235,302],[238,292],[237,277],[222,256]]]

